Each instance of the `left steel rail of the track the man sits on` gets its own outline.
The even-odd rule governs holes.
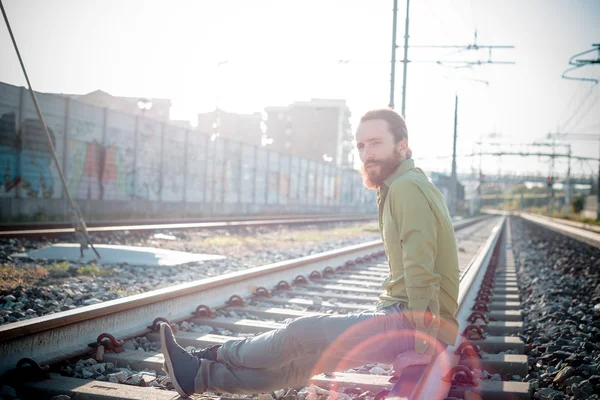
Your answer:
[[[455,223],[455,229],[472,225],[476,217]],[[380,240],[332,250],[295,260],[268,264],[219,277],[180,284],[97,305],[59,312],[0,326],[0,374],[23,357],[51,364],[82,355],[99,332],[126,339],[150,332],[147,326],[158,317],[177,322],[189,319],[195,307],[204,304],[222,308],[231,293],[251,296],[258,286],[276,286],[313,270],[343,265],[350,259],[381,252]]]

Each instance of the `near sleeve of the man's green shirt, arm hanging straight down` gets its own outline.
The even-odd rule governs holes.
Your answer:
[[[415,351],[433,353],[440,323],[440,276],[434,272],[437,255],[435,215],[421,189],[412,181],[394,182],[389,196],[402,246],[408,316],[417,330]],[[426,320],[427,311],[432,318]]]

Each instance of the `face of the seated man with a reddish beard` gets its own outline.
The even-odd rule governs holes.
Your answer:
[[[361,173],[367,188],[377,189],[398,168],[406,145],[405,140],[395,143],[386,121],[361,122],[356,130],[356,147],[363,162]]]

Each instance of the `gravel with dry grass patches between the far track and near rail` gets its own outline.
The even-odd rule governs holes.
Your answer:
[[[368,229],[363,229],[365,227]],[[336,229],[346,228],[352,229],[350,231],[352,233],[330,235],[330,232]],[[243,240],[234,240],[233,244],[229,245],[228,241],[232,240],[230,238],[234,235]],[[305,241],[298,240],[298,235],[307,235],[308,238]],[[94,266],[100,272],[94,272],[95,275],[78,272],[90,265],[65,262],[61,264],[60,269],[51,269],[48,276],[36,281],[35,284],[17,286],[9,292],[0,289],[0,324],[99,304],[174,284],[219,276],[379,238],[374,223],[369,225],[362,222],[239,227],[195,232],[176,230],[161,233],[134,231],[98,233],[94,234],[95,243],[221,254],[227,258],[194,262],[177,267],[132,266],[126,263],[109,266],[96,263]],[[22,270],[33,269],[36,266],[55,267],[57,263],[44,260],[35,262],[21,258],[12,260],[10,254],[65,241],[73,241],[73,239],[70,236],[43,241],[21,238],[0,239],[0,265],[13,266]],[[294,309],[303,308],[295,306]]]

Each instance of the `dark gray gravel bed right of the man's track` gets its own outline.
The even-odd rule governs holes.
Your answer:
[[[600,394],[600,250],[510,217],[529,373],[537,399]],[[592,381],[590,381],[592,380]]]

